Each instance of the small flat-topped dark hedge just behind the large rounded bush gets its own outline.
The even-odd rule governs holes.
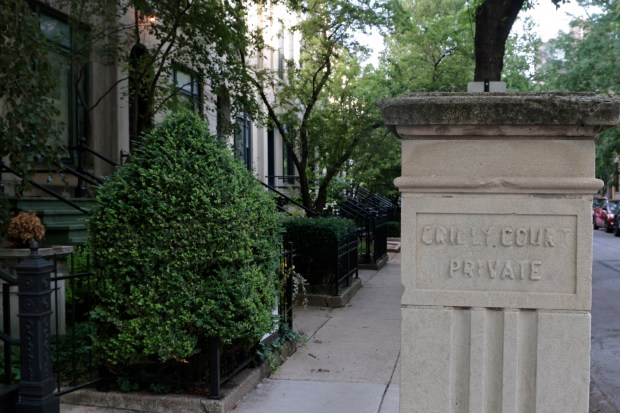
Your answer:
[[[355,222],[333,217],[290,217],[283,220],[283,226],[295,250],[295,269],[308,282],[307,291],[331,293],[338,266],[338,247],[356,240]]]

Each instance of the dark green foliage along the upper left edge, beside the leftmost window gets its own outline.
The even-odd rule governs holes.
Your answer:
[[[25,0],[0,3],[0,159],[29,177],[64,153],[48,42]]]

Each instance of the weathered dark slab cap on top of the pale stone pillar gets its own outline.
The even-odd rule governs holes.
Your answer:
[[[575,125],[620,122],[620,99],[583,93],[424,93],[379,102],[392,130],[405,125]]]

